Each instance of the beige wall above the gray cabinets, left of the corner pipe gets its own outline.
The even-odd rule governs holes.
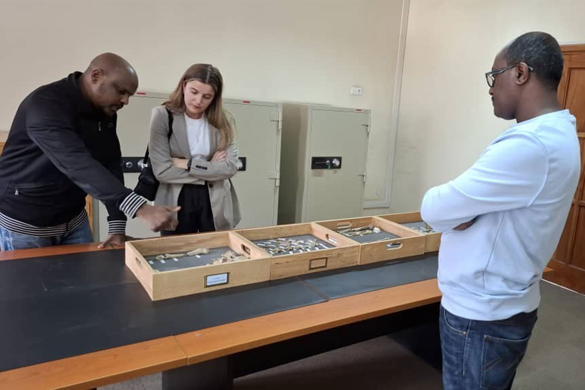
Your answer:
[[[372,109],[366,199],[384,199],[401,9],[359,0],[0,1],[0,130],[30,91],[102,51],[127,58],[145,91],[168,92],[188,65],[208,62],[229,98]],[[352,85],[364,95],[349,95]]]

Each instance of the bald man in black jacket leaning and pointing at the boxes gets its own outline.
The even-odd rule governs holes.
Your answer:
[[[123,185],[116,112],[137,87],[134,68],[104,53],[20,103],[0,157],[2,250],[91,242],[86,194],[108,209],[106,242],[122,244],[135,216],[174,229],[178,208],[150,206]]]

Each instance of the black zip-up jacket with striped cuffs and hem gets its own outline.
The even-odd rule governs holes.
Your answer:
[[[116,116],[85,100],[80,75],[37,88],[20,103],[0,156],[4,216],[37,227],[68,223],[90,194],[120,227],[144,203],[123,185]]]

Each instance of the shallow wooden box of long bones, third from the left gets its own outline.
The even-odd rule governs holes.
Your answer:
[[[378,261],[395,260],[402,257],[416,256],[425,253],[425,236],[422,233],[413,232],[404,226],[377,217],[360,217],[349,219],[336,219],[317,222],[330,230],[346,227],[376,226],[382,232],[366,234],[364,236],[346,237],[355,241],[360,246],[359,264],[377,263]],[[390,234],[388,234],[390,233]],[[341,234],[341,233],[339,233]],[[397,236],[384,241],[389,236]],[[344,236],[345,237],[345,236]]]

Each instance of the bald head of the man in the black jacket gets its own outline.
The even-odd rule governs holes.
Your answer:
[[[132,65],[118,54],[102,53],[91,60],[83,73],[81,88],[94,106],[112,116],[136,92],[138,76]]]

